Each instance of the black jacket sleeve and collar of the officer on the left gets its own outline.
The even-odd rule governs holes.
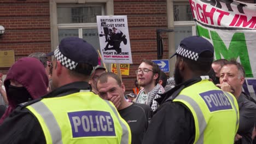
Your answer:
[[[61,97],[77,93],[80,89],[90,89],[87,82],[73,82],[55,89],[42,98]],[[37,118],[25,107],[40,99],[20,104],[4,123],[0,125],[0,143],[46,143],[43,130]]]

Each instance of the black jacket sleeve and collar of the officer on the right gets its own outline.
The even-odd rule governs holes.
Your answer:
[[[172,100],[184,89],[201,81],[200,77],[188,80],[161,94],[160,107],[154,113],[143,143],[193,143],[195,140],[194,117],[187,106]]]

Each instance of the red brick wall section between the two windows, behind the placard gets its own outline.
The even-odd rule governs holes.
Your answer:
[[[114,15],[127,15],[131,43],[132,61],[130,75],[122,76],[126,93],[132,92],[136,80],[135,70],[141,59],[157,59],[156,29],[167,28],[166,0],[114,0]],[[165,37],[167,38],[167,37]],[[164,57],[168,58],[165,39]]]

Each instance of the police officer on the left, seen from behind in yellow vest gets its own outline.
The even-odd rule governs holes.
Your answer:
[[[54,51],[54,91],[20,104],[0,126],[0,143],[131,143],[129,125],[115,106],[90,91],[97,52],[80,38]]]

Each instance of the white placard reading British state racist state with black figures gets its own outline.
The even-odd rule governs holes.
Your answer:
[[[104,63],[132,63],[127,16],[97,16]]]

